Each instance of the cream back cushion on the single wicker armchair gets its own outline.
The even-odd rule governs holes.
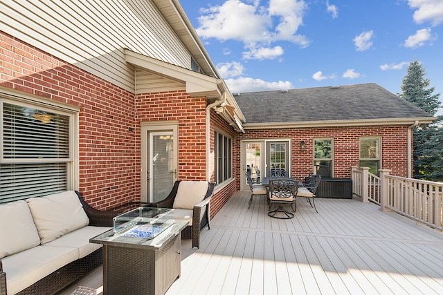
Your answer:
[[[172,208],[193,209],[206,196],[208,186],[207,181],[181,181]]]

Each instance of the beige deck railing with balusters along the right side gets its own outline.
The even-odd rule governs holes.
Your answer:
[[[374,202],[383,211],[395,211],[429,227],[443,231],[443,182],[390,175],[380,177],[368,168],[352,169],[353,193],[363,202]]]

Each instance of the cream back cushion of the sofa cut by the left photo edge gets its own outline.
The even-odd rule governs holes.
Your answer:
[[[0,205],[0,258],[40,244],[39,234],[24,200]]]

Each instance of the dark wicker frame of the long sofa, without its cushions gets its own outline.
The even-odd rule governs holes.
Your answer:
[[[75,193],[77,193],[78,198],[83,205],[83,209],[87,213],[89,225],[96,227],[112,227],[114,225],[112,218],[117,216],[117,212],[94,209],[83,200],[78,191],[75,191]],[[55,294],[61,289],[71,285],[75,280],[82,278],[100,264],[102,264],[101,248],[93,251],[88,256],[74,260],[73,262],[64,265],[64,267],[60,267],[60,269],[57,269],[52,274],[38,280],[33,285],[30,285],[17,294]],[[3,266],[0,259],[0,295],[7,294],[6,272],[3,272]]]

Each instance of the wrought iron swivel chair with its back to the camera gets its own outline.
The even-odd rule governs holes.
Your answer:
[[[284,204],[293,206],[296,211],[296,196],[298,183],[296,180],[281,178],[269,181],[269,212],[268,215],[273,218],[291,219],[293,213],[284,208]],[[278,204],[278,208],[271,210],[272,204]]]

